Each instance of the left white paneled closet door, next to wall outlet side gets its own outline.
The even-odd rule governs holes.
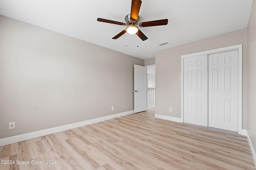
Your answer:
[[[207,55],[183,61],[184,123],[207,126]]]

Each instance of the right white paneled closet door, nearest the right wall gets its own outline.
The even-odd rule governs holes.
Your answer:
[[[208,126],[238,132],[238,50],[208,55]]]

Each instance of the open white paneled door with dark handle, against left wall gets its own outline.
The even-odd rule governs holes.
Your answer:
[[[147,67],[134,64],[134,113],[147,110]]]

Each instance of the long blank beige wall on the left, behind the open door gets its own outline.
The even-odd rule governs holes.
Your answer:
[[[0,16],[0,139],[133,110],[134,64],[144,60]]]

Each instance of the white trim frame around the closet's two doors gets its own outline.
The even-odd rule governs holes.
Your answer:
[[[196,57],[199,55],[209,55],[213,53],[220,53],[220,52],[231,51],[236,49],[238,49],[238,134],[242,135],[242,44],[181,56],[181,121],[182,123],[184,122],[183,120],[183,114],[184,114],[183,113],[183,107],[184,107],[183,105],[183,100],[184,100],[183,61],[184,61],[184,58]]]

